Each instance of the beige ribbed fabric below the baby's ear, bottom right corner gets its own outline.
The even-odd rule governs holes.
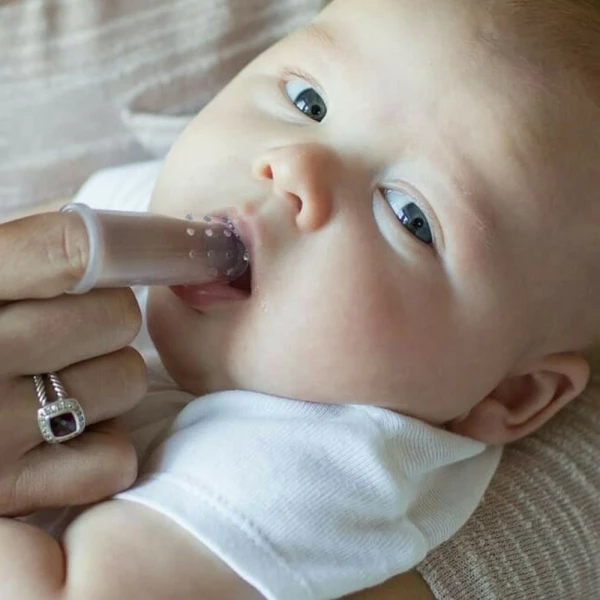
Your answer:
[[[506,448],[475,515],[420,565],[438,600],[600,599],[600,353],[593,365],[583,397]]]

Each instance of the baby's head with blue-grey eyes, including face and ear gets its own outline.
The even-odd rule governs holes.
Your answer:
[[[232,207],[252,253],[242,301],[153,291],[167,368],[535,430],[600,337],[599,68],[595,0],[334,0],[167,158],[152,210]]]

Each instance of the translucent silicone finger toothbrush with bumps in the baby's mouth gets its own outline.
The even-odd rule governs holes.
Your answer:
[[[238,278],[246,248],[223,219],[189,221],[151,213],[95,210],[72,203],[85,224],[89,260],[70,293],[132,285],[194,285]]]

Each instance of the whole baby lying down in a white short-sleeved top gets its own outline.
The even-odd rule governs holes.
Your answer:
[[[203,397],[60,543],[4,524],[19,598],[325,600],[464,524],[600,337],[599,9],[334,0],[198,115],[149,208],[227,207],[251,273],[150,291]]]

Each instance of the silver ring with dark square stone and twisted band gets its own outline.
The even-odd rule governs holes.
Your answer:
[[[38,409],[37,421],[44,440],[49,444],[61,444],[81,435],[85,429],[83,409],[75,398],[69,398],[58,375],[56,373],[47,373],[45,376],[34,375],[33,382],[41,405]],[[53,402],[48,402],[47,382],[56,397]]]

